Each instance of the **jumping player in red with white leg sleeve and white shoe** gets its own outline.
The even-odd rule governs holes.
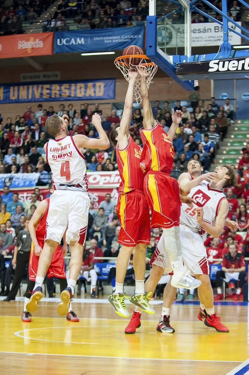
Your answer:
[[[143,104],[143,128],[140,129],[140,135],[144,147],[140,166],[146,174],[144,192],[152,212],[151,228],[163,229],[165,249],[174,269],[171,285],[176,288],[194,289],[201,284],[201,281],[184,274],[179,237],[179,186],[177,181],[170,177],[174,160],[172,139],[182,120],[182,113],[173,112],[173,123],[167,134],[161,124],[154,120],[152,114],[146,86],[148,73],[142,66],[137,70],[141,77],[140,94]]]

